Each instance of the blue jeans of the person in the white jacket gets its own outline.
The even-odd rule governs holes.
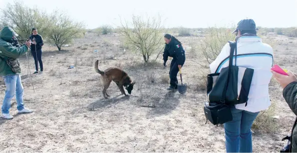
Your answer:
[[[259,112],[231,107],[233,120],[224,124],[227,153],[252,153],[251,126]]]

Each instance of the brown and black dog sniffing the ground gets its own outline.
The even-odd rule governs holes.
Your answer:
[[[98,61],[99,60],[95,62],[95,71],[101,74],[102,76],[102,81],[104,85],[104,89],[103,89],[104,98],[110,97],[106,93],[106,90],[109,87],[111,81],[114,81],[118,85],[121,93],[124,94],[125,96],[128,96],[128,95],[126,95],[123,86],[126,87],[126,90],[128,91],[128,93],[131,94],[135,82],[132,82],[128,74],[125,71],[115,67],[108,68],[104,70],[104,72],[100,71],[98,69]]]

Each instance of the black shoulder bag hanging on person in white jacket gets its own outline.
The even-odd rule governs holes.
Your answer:
[[[236,66],[236,42],[229,41],[229,44],[229,66],[222,68],[220,73],[207,75],[208,104],[205,103],[204,114],[207,121],[209,120],[213,125],[232,121],[229,106],[243,103],[247,105],[254,72],[253,69]],[[234,51],[235,65],[233,65]],[[238,89],[238,84],[241,86],[240,89]],[[239,96],[238,91],[240,91]]]

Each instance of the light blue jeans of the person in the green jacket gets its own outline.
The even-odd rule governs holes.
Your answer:
[[[17,109],[19,111],[23,110],[24,109],[24,104],[23,104],[24,87],[22,85],[21,75],[20,74],[7,75],[3,78],[6,85],[6,91],[5,91],[5,97],[2,105],[2,113],[3,114],[10,113],[11,101],[15,95],[16,95],[16,100],[18,104]]]

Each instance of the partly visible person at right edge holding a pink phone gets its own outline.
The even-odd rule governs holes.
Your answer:
[[[288,71],[286,75],[272,71],[273,77],[283,88],[282,96],[292,112],[297,116],[297,74]],[[289,153],[297,153],[297,119],[291,131],[291,145]]]

